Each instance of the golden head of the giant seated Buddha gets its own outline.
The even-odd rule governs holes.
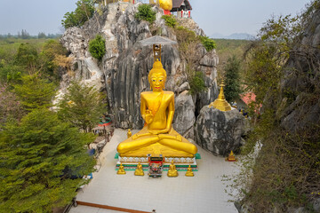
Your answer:
[[[148,82],[152,91],[163,91],[166,81],[166,72],[160,61],[155,61],[152,69],[148,74]]]

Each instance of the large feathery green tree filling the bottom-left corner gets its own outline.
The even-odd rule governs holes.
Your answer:
[[[48,109],[35,110],[0,132],[0,209],[51,212],[66,205],[95,164],[80,133]]]

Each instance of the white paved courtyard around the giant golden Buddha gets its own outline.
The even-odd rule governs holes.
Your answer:
[[[132,131],[132,134],[137,131]],[[134,171],[126,175],[116,175],[116,146],[126,138],[125,130],[115,130],[111,141],[100,154],[102,166],[93,173],[92,181],[85,185],[77,196],[77,201],[108,205],[124,209],[135,209],[156,213],[232,213],[237,212],[232,199],[225,193],[226,183],[222,175],[236,172],[234,162],[225,162],[224,158],[213,156],[198,146],[201,159],[197,160],[198,171],[195,177],[186,177],[185,171],[179,177],[134,176]],[[71,213],[107,213],[117,212],[78,205],[70,209]]]

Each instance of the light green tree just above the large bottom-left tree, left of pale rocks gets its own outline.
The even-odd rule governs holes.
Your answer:
[[[54,83],[49,83],[36,74],[24,75],[22,83],[14,85],[14,91],[27,111],[51,106],[55,88]]]

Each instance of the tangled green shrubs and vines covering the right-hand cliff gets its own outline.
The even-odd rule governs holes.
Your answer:
[[[315,33],[319,9],[319,1],[314,1],[299,16],[268,20],[260,39],[246,51],[244,83],[257,97],[251,111],[256,125],[243,154],[257,148],[257,141],[262,146],[256,158],[244,159],[236,185],[252,212],[287,212],[300,206],[312,212],[311,203],[319,198],[319,114],[313,120],[305,118],[320,97],[320,84],[312,80],[319,74],[320,60],[313,43],[301,44],[304,33]],[[308,86],[295,84],[300,79]]]

